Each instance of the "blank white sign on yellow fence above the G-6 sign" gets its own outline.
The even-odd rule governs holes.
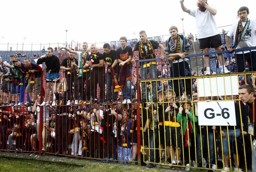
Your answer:
[[[238,95],[238,76],[221,76],[197,79],[199,97]]]

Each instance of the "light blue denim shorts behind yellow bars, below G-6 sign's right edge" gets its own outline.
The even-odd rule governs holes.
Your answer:
[[[228,155],[229,150],[228,150],[228,144],[230,143],[230,148],[233,146],[233,142],[235,141],[235,130],[228,130],[227,129],[222,129],[225,134],[226,137],[222,137],[222,142],[223,142],[223,154],[224,155]],[[239,137],[241,133],[240,128],[236,129],[236,137]],[[229,137],[229,143],[228,143],[228,137]],[[233,147],[234,149],[234,147]]]

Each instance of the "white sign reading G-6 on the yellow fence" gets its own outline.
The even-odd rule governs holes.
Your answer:
[[[236,126],[234,101],[198,102],[198,125]]]

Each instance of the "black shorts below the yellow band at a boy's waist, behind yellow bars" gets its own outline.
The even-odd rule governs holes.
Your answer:
[[[171,127],[165,127],[165,144],[166,146],[174,145],[175,147],[181,147],[181,129],[177,127],[174,130],[171,130]],[[177,131],[177,139],[176,139],[176,131]]]

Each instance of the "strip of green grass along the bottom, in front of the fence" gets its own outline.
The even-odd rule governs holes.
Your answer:
[[[0,158],[0,172],[146,172],[149,169],[141,168],[134,165],[110,164],[110,163],[86,163],[85,166],[69,165],[64,163],[53,163],[38,160]],[[150,169],[151,172],[165,171],[163,168]]]

